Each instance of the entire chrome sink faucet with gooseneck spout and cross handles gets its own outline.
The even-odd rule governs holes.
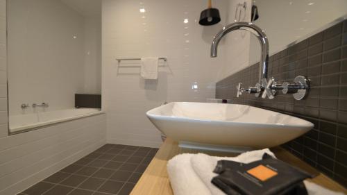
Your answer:
[[[310,88],[310,83],[304,76],[297,76],[294,83],[285,83],[285,85],[276,81],[273,77],[267,80],[269,67],[269,41],[267,40],[264,31],[253,23],[235,22],[224,26],[223,29],[214,36],[211,45],[211,58],[217,57],[218,44],[221,41],[221,38],[235,30],[244,30],[253,33],[253,35],[255,35],[259,40],[261,46],[259,82],[255,87],[248,87],[248,89],[242,88],[242,83],[239,83],[237,86],[237,97],[242,95],[242,92],[248,92],[249,94],[255,94],[257,97],[262,94],[263,99],[265,99],[266,96],[269,99],[273,99],[278,90],[282,90],[283,94],[291,93],[297,100],[305,98],[308,89]]]

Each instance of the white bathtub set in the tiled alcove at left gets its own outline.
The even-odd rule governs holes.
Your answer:
[[[76,108],[14,115],[9,117],[10,133],[18,133],[22,130],[47,126],[62,121],[69,121],[92,115],[99,115],[101,113],[103,112],[98,108]]]

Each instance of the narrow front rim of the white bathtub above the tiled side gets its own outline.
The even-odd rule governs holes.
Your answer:
[[[61,124],[64,123],[66,121],[74,121],[77,119],[81,119],[81,118],[86,118],[86,117],[92,117],[95,115],[102,115],[105,114],[106,112],[103,110],[97,111],[97,112],[90,112],[84,115],[76,115],[74,117],[69,117],[69,118],[62,118],[62,119],[56,119],[56,120],[52,120],[52,121],[46,121],[46,122],[41,122],[41,123],[37,123],[37,124],[33,124],[33,125],[28,125],[28,126],[24,126],[24,127],[18,127],[18,128],[10,128],[10,125],[8,125],[8,135],[16,135],[19,133],[26,133],[28,131],[32,131],[32,130],[37,130],[40,128],[45,128],[47,126],[55,126],[56,124]]]

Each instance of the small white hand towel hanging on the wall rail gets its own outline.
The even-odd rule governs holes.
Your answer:
[[[141,76],[144,79],[158,79],[159,58],[141,58]]]

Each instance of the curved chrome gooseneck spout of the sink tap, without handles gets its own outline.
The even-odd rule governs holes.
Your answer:
[[[214,36],[214,39],[212,41],[211,45],[211,58],[217,57],[217,49],[218,49],[218,44],[221,41],[221,38],[224,37],[226,34],[235,31],[235,30],[244,30],[244,31],[249,31],[253,33],[259,40],[262,53],[261,53],[261,58],[260,58],[260,78],[259,80],[261,81],[263,78],[267,80],[267,70],[268,70],[268,63],[269,63],[269,42],[267,40],[267,37],[262,31],[261,28],[256,26],[253,23],[248,23],[248,22],[235,22],[232,24],[229,24],[228,26],[223,27],[217,35]]]

